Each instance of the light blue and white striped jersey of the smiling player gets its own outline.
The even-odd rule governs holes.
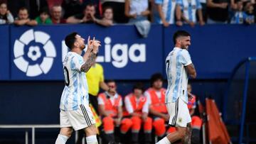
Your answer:
[[[166,103],[175,102],[178,97],[188,103],[188,74],[185,66],[192,63],[188,50],[174,48],[166,57],[166,75],[168,87]]]

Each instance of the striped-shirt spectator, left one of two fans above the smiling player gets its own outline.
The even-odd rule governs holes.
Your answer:
[[[164,27],[176,23],[182,26],[181,6],[176,4],[178,0],[154,0],[154,22],[161,23]],[[175,21],[176,20],[176,21]]]

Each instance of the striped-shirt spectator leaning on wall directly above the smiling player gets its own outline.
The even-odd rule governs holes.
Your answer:
[[[178,4],[182,9],[182,17],[186,23],[190,26],[195,26],[196,21],[196,11],[198,12],[199,24],[203,26],[205,23],[203,21],[202,6],[199,0],[180,0]]]

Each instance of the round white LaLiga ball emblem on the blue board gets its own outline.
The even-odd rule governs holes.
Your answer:
[[[36,77],[50,71],[56,50],[50,35],[31,29],[15,40],[14,57],[14,63],[19,70],[25,72],[28,77]]]

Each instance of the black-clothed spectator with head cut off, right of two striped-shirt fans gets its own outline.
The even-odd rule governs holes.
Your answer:
[[[207,23],[228,23],[228,0],[207,0]]]

